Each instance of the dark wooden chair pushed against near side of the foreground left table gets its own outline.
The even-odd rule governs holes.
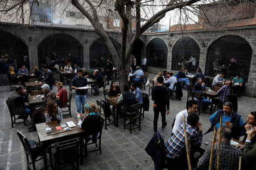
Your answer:
[[[79,170],[79,138],[55,144],[55,169],[60,169],[72,165],[72,169]],[[76,162],[76,168],[74,168]]]

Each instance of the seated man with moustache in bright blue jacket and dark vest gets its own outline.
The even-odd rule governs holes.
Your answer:
[[[207,131],[209,133],[213,130],[214,126],[220,128],[220,117],[222,117],[222,126],[228,126],[232,129],[232,138],[239,140],[239,138],[244,135],[245,131],[239,130],[237,127],[244,124],[240,114],[233,112],[233,104],[226,101],[223,104],[223,110],[216,111],[212,116],[210,116],[210,129]],[[206,133],[205,133],[206,134]]]

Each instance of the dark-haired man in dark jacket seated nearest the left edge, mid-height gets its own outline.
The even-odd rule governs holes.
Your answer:
[[[19,115],[18,118],[28,117],[30,114],[27,91],[24,90],[23,86],[16,86],[15,91],[10,96],[10,105],[13,113]]]

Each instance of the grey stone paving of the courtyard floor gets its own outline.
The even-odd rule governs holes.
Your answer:
[[[153,78],[154,75],[149,75],[149,78]],[[67,87],[66,87],[67,88]],[[55,92],[57,88],[53,89]],[[148,93],[148,87],[146,91]],[[14,128],[11,128],[11,120],[9,110],[5,101],[10,96],[10,87],[1,86],[0,88],[0,169],[27,169],[26,156],[24,149],[19,141],[16,131],[21,131],[28,139],[34,139],[38,141],[37,133],[28,133],[27,127],[31,126],[31,120],[28,119],[27,126],[24,124],[16,124]],[[72,98],[72,117],[76,118],[76,104],[75,97]],[[97,99],[104,99],[104,95],[93,96],[87,95],[87,102],[96,103]],[[181,101],[170,100],[170,114],[166,116],[167,127],[161,128],[161,121],[159,116],[158,131],[162,134],[166,141],[171,136],[171,124],[175,115],[185,109],[185,103],[187,101],[187,91],[183,90],[183,97]],[[247,114],[252,111],[256,111],[256,99],[251,97],[242,96],[238,99],[238,113],[242,115],[243,120],[246,120]],[[209,112],[209,109],[208,111]],[[206,131],[209,124],[209,113],[201,113],[200,121],[203,122],[203,131]],[[145,117],[142,118],[141,131],[135,129],[132,134],[129,130],[123,129],[123,121],[119,119],[119,127],[115,127],[113,124],[108,126],[108,129],[103,129],[102,133],[102,154],[99,152],[90,152],[87,157],[84,158],[84,165],[80,166],[80,169],[154,169],[154,162],[152,162],[150,156],[146,154],[144,148],[148,141],[150,141],[153,133],[153,117],[152,100],[150,100],[150,111],[145,112]],[[209,141],[212,138],[212,134],[209,133],[204,136],[204,141]],[[92,146],[94,147],[94,146]],[[42,162],[37,165],[39,168]]]

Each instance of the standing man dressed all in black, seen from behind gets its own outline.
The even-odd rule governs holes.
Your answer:
[[[162,128],[166,127],[166,114],[169,114],[170,100],[167,89],[163,86],[163,76],[156,79],[158,86],[152,88],[152,100],[154,101],[154,132],[158,131],[159,112],[162,116]]]

